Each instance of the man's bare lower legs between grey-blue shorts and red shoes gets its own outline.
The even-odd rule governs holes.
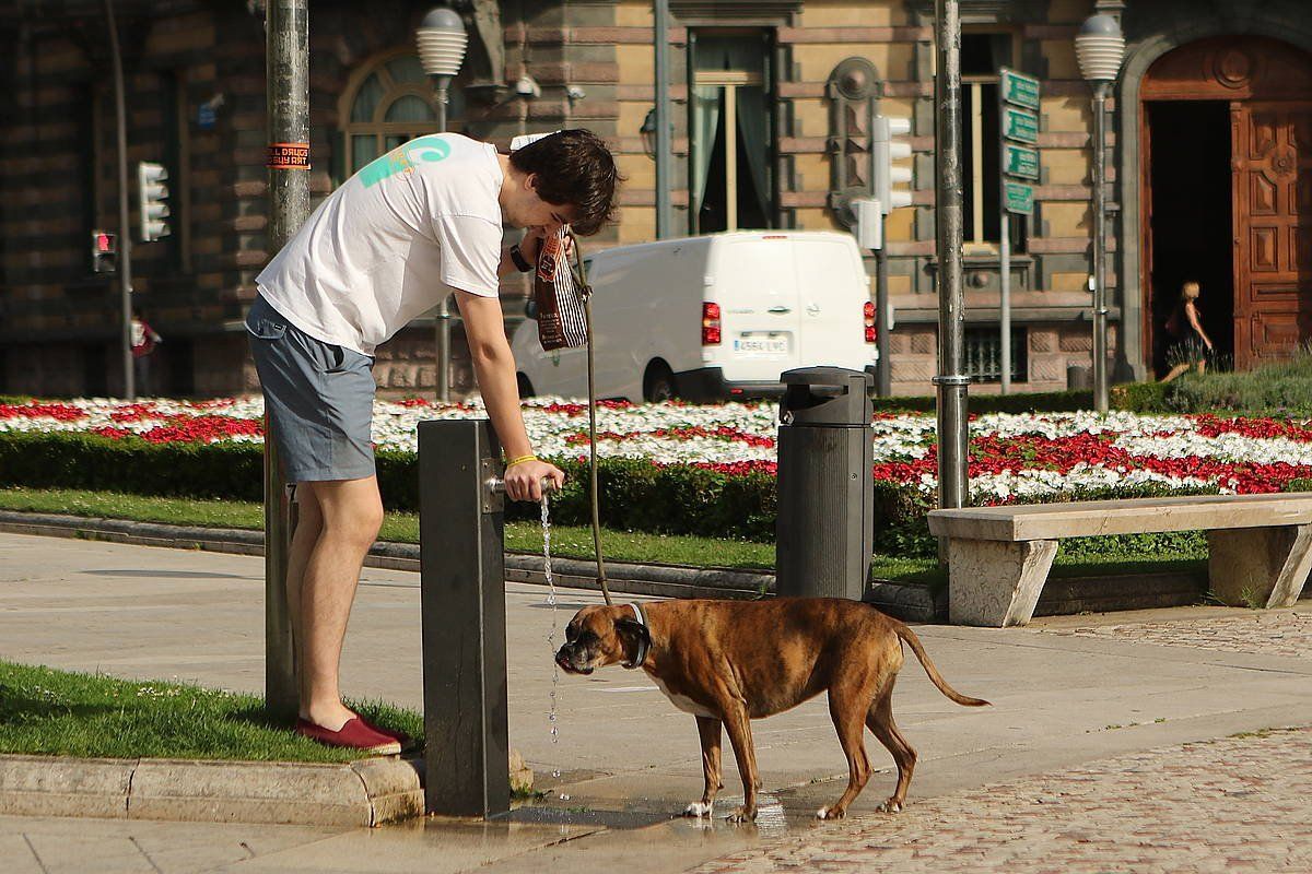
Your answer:
[[[365,554],[383,523],[377,477],[302,482],[287,567],[300,717],[333,731],[354,714],[341,702],[338,667]],[[304,535],[302,535],[304,531]]]

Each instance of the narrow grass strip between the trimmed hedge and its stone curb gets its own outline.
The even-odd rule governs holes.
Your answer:
[[[192,501],[152,498],[108,491],[41,489],[0,489],[0,510],[54,512],[77,516],[134,519],[180,525],[260,529],[264,511],[257,503],[237,501]],[[391,512],[383,522],[382,540],[419,542],[419,516]],[[1054,565],[1054,577],[1090,574],[1132,574],[1186,571],[1202,573],[1207,548],[1200,537],[1156,536],[1140,548],[1098,537],[1063,541]],[[1123,544],[1123,541],[1120,541]],[[513,522],[505,527],[506,549],[542,553],[542,528],[537,523]],[[613,561],[634,561],[698,567],[773,570],[774,544],[743,540],[716,540],[632,531],[602,531],[602,552]],[[583,525],[554,525],[551,554],[589,560],[593,557],[592,529]],[[875,556],[871,574],[876,579],[942,586],[946,571],[933,558]]]

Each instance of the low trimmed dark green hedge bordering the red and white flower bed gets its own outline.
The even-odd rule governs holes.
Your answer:
[[[377,455],[378,480],[388,510],[419,511],[419,459],[408,452]],[[592,520],[588,465],[558,460],[567,474],[564,490],[551,499],[554,522],[585,525]],[[0,485],[37,489],[91,489],[143,495],[262,499],[264,449],[256,443],[148,443],[140,438],[113,439],[94,434],[0,434]],[[937,540],[926,514],[937,506],[934,493],[876,481],[872,527],[880,554],[932,557]],[[1290,490],[1312,487],[1295,481]],[[727,476],[693,465],[655,465],[636,459],[602,459],[598,468],[600,516],[604,525],[623,531],[701,535],[768,541],[774,537],[778,508],[775,478],[754,472]],[[1105,489],[1046,495],[1035,503],[1208,494],[1144,485],[1134,490]],[[512,502],[506,519],[535,520],[537,504]],[[1179,535],[1136,535],[1090,540],[1089,552],[1172,552]],[[1197,532],[1183,536],[1200,537]],[[1191,541],[1190,541],[1191,542]]]

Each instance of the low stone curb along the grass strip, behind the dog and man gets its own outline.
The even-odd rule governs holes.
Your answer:
[[[167,525],[152,522],[96,519],[54,514],[29,514],[0,510],[0,531],[18,535],[85,537],[110,542],[205,549],[207,552],[264,554],[264,532],[240,528],[202,528]],[[419,571],[417,544],[377,542],[365,558],[370,567]],[[596,565],[573,558],[552,558],[555,582],[569,588],[600,590]],[[506,553],[505,577],[520,583],[546,584],[542,557]],[[758,598],[774,592],[774,574],[678,565],[644,565],[606,562],[606,584],[610,591],[659,598]],[[943,600],[946,594],[939,600]],[[890,616],[908,622],[933,622],[946,615],[946,603],[935,604],[924,586],[872,582],[865,600]]]

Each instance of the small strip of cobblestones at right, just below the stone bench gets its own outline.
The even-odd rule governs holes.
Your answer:
[[[1312,613],[1294,611],[1253,611],[1248,616],[1183,621],[1046,628],[1038,629],[1038,633],[1312,659]]]

